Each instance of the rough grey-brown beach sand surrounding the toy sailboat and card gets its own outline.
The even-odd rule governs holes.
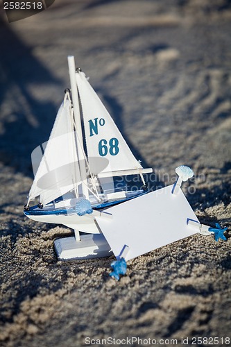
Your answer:
[[[203,346],[228,345],[230,18],[225,0],[55,0],[11,24],[1,10],[1,346],[144,346],[154,339],[194,346],[198,337],[211,337]],[[228,226],[226,242],[182,239],[128,262],[119,282],[109,276],[114,257],[57,260],[54,240],[72,230],[30,221],[23,206],[31,151],[49,137],[69,87],[68,54],[136,157],[153,167],[148,187],[172,183],[179,164],[191,166],[189,203],[202,223]]]

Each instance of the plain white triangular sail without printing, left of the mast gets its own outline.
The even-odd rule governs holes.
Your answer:
[[[33,158],[32,158],[33,159]],[[80,183],[71,104],[63,101],[35,174],[29,199],[40,196],[43,205],[69,192]]]

